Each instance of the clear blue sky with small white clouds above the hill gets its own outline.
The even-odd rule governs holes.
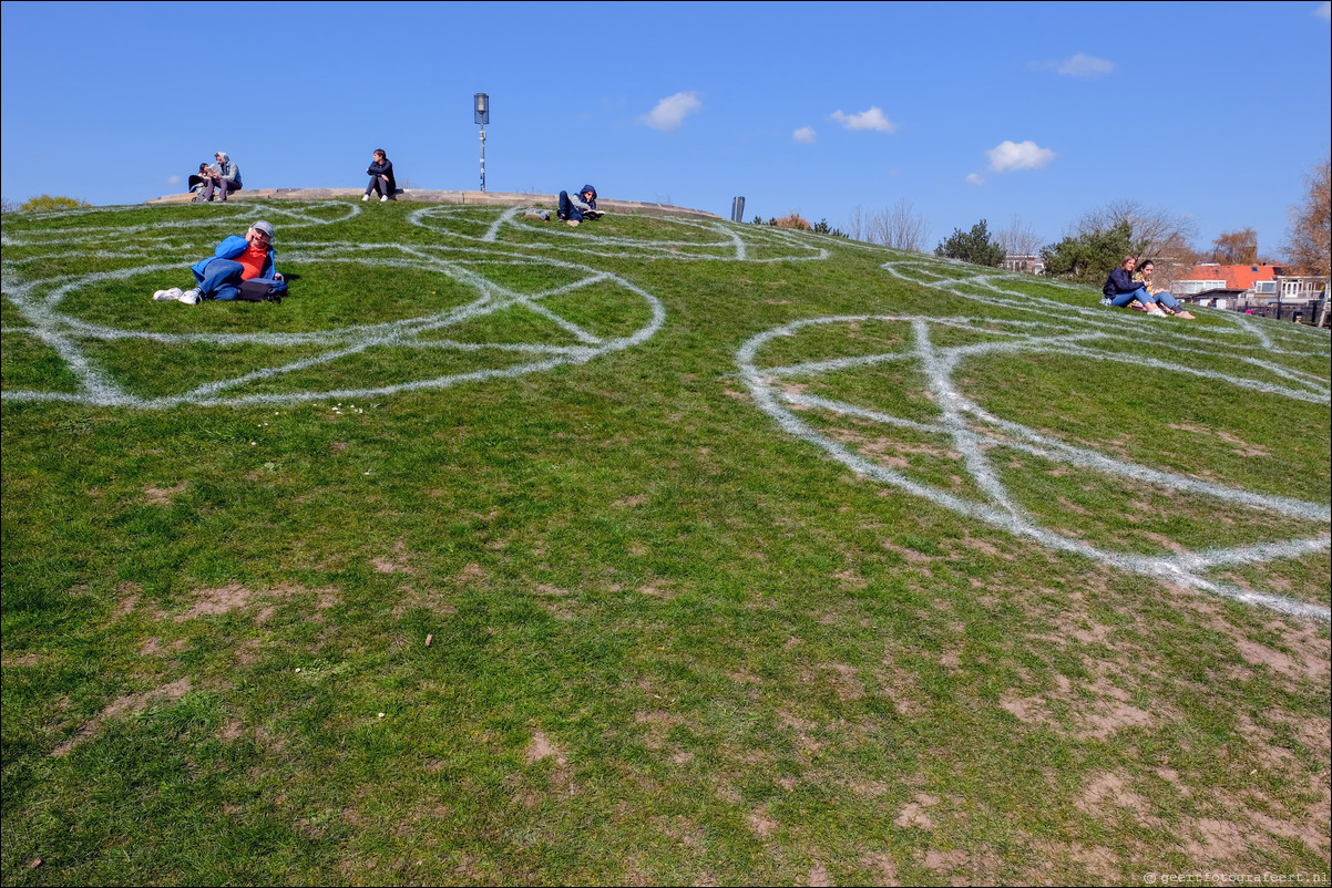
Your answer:
[[[3,196],[133,204],[214,150],[250,188],[573,190],[930,244],[1136,200],[1263,253],[1332,142],[1328,4],[4,3]],[[244,35],[232,39],[230,35]]]

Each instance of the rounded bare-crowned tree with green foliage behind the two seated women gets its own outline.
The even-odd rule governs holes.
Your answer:
[[[1193,265],[1193,225],[1138,201],[1114,201],[1084,214],[1058,244],[1042,248],[1046,274],[1100,285],[1126,256],[1156,264],[1156,284],[1169,289],[1177,270]]]

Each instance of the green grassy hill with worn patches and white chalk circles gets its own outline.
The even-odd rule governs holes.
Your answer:
[[[289,298],[151,301],[258,217]],[[3,238],[4,884],[1325,879],[1323,332],[679,218]]]

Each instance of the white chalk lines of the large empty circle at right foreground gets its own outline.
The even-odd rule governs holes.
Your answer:
[[[900,351],[890,351],[878,355],[803,361],[787,366],[758,365],[761,351],[777,337],[797,335],[806,328],[818,325],[850,325],[868,321],[906,325],[914,334],[912,341],[910,343],[903,343],[903,350]],[[1235,506],[1271,511],[1311,522],[1328,523],[1332,521],[1332,507],[1327,503],[1313,503],[1288,497],[1255,494],[1252,491],[1233,489],[1225,485],[1159,471],[1146,466],[1138,466],[1126,459],[1111,459],[1104,454],[1087,447],[1067,445],[1018,422],[995,417],[970,398],[964,397],[956,389],[952,379],[959,362],[968,357],[994,351],[1010,354],[1020,354],[1026,350],[1062,353],[1070,351],[1070,349],[1062,346],[1058,339],[1047,335],[1028,335],[1024,341],[1000,339],[955,347],[942,347],[932,343],[932,329],[935,326],[956,329],[959,326],[966,326],[967,324],[970,324],[967,320],[959,318],[920,318],[900,314],[844,316],[795,321],[751,337],[738,351],[737,365],[742,379],[754,398],[754,402],[761,410],[771,415],[779,427],[802,441],[818,446],[829,455],[860,475],[872,478],[882,483],[892,485],[908,494],[920,497],[946,509],[951,509],[959,514],[984,521],[986,523],[1007,533],[1034,539],[1043,546],[1058,551],[1075,553],[1120,570],[1171,580],[1189,588],[1220,595],[1237,602],[1259,604],[1283,614],[1313,618],[1324,622],[1332,620],[1332,614],[1329,614],[1327,607],[1300,602],[1273,592],[1241,588],[1231,583],[1209,579],[1204,575],[1207,571],[1220,566],[1263,563],[1275,559],[1296,558],[1312,551],[1327,550],[1332,547],[1332,538],[1328,535],[1150,556],[1110,551],[1103,547],[1086,543],[1074,537],[1042,527],[1039,522],[1035,521],[1012,498],[1007,486],[1003,483],[1003,479],[999,477],[999,473],[995,471],[991,457],[992,450],[1008,447],[1038,455],[1047,461],[1060,462],[1084,470],[1119,475],[1160,489],[1212,497]],[[988,324],[994,324],[994,321],[988,321]],[[975,329],[980,333],[991,335],[995,333],[995,330],[987,328]],[[1128,362],[1134,362],[1132,358],[1126,358],[1126,355],[1100,353],[1092,353],[1092,355],[1107,361],[1127,359]],[[936,422],[904,419],[882,411],[859,407],[856,405],[848,405],[836,399],[819,398],[782,389],[782,381],[790,381],[798,375],[815,377],[823,373],[846,369],[872,367],[890,361],[910,361],[920,369],[926,378],[926,386],[934,394],[935,405],[939,409],[939,419]],[[1192,370],[1191,367],[1172,365],[1164,361],[1155,362],[1154,366],[1162,371]],[[1249,385],[1253,381],[1243,377],[1228,377],[1225,374],[1216,373],[1208,373],[1207,375],[1228,385],[1253,387]],[[1263,383],[1260,390],[1301,401],[1309,399],[1309,393],[1303,389],[1283,389],[1280,386]],[[831,439],[827,434],[819,431],[798,417],[793,409],[825,410],[829,413],[855,417],[862,421],[902,427],[911,431],[946,435],[952,441],[955,450],[967,466],[967,470],[976,482],[978,489],[983,493],[988,502],[960,497],[947,490],[916,481],[906,473],[896,471],[875,462]]]

